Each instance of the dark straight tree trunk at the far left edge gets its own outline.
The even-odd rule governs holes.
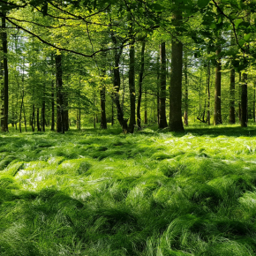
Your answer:
[[[2,16],[2,43],[4,52],[4,126],[3,131],[8,132],[8,104],[9,104],[9,91],[8,91],[8,62],[7,62],[7,33],[6,33],[6,20],[5,13]]]

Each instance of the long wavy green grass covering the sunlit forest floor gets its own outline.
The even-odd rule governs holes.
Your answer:
[[[10,132],[1,256],[256,255],[256,126]]]

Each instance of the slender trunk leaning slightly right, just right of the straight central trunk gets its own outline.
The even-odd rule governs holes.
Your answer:
[[[139,130],[141,130],[140,106],[141,106],[142,82],[143,82],[143,74],[144,74],[145,45],[146,45],[146,42],[142,41],[140,71],[139,71],[139,95],[138,95],[138,103],[137,103],[137,125]],[[147,111],[147,109],[145,111]]]

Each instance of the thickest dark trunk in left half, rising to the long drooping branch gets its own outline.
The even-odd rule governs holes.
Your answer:
[[[64,133],[64,94],[62,56],[56,55],[56,132]]]

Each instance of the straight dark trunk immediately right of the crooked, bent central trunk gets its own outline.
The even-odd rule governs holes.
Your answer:
[[[131,22],[132,23],[132,22]],[[133,37],[132,24],[129,34]],[[135,95],[135,48],[134,39],[132,38],[129,50],[129,91],[130,91],[130,122],[128,132],[133,133],[136,125],[136,95]]]

